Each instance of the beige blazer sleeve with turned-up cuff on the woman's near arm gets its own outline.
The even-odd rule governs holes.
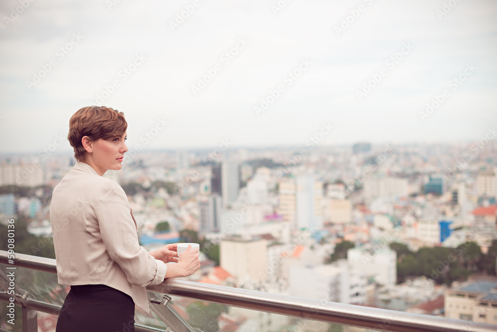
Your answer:
[[[136,286],[158,285],[164,281],[167,266],[140,246],[124,190],[109,181],[95,198],[95,217],[109,256]]]

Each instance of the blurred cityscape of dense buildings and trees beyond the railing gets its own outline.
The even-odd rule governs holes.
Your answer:
[[[105,177],[128,195],[149,251],[200,243],[190,280],[497,324],[494,136],[320,146],[317,134],[304,147],[130,150]],[[16,219],[17,236],[25,222],[37,239],[22,253],[53,256],[51,193],[75,162],[0,156],[0,220]],[[265,314],[257,331],[288,324]],[[221,316],[238,328],[219,331],[253,324],[243,311]],[[327,329],[309,331],[342,331]]]

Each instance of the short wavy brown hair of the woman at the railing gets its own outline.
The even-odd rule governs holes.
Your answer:
[[[74,148],[76,160],[83,161],[86,150],[81,139],[84,136],[88,136],[90,141],[116,138],[121,137],[127,128],[123,112],[105,106],[88,106],[71,116],[67,139]]]

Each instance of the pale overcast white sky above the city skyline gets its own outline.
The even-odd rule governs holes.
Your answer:
[[[145,148],[304,145],[324,124],[323,145],[451,142],[497,126],[497,1],[286,1],[1,0],[0,152],[43,149],[95,104],[123,111]]]

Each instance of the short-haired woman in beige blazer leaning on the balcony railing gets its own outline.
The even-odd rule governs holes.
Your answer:
[[[126,129],[123,113],[106,107],[85,107],[69,121],[78,162],[54,188],[50,206],[58,282],[71,285],[57,332],[135,331],[135,304],[150,311],[147,285],[200,267],[198,250],[178,256],[177,244],[152,252],[139,245],[126,194],[103,177],[122,168]]]

